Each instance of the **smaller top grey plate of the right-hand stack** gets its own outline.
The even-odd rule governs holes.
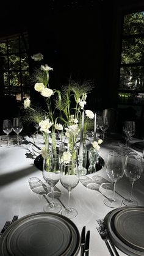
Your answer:
[[[128,246],[144,252],[144,208],[126,208],[114,219],[117,235]]]

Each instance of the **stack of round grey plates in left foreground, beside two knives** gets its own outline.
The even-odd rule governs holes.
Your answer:
[[[72,256],[78,254],[79,244],[79,231],[70,219],[57,213],[34,213],[4,232],[0,255]]]

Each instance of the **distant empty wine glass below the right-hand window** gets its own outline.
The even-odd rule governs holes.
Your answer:
[[[126,134],[126,146],[129,147],[129,141],[131,137],[135,134],[135,122],[125,121],[123,125],[123,132]]]

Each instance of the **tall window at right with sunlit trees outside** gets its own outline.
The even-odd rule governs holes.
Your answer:
[[[124,15],[121,49],[120,103],[144,100],[144,11]]]

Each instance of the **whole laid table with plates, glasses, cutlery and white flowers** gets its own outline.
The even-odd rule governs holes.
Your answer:
[[[13,120],[0,147],[0,254],[143,255],[143,152],[132,147],[142,140],[132,137],[131,125],[124,126],[126,141],[107,134],[107,120],[100,125],[96,112],[84,109],[88,84],[65,88],[62,101],[62,93],[48,86],[49,70],[42,66],[43,83],[34,86],[48,111],[24,101],[26,120],[39,130],[20,139],[23,123],[17,123],[15,147]],[[55,93],[57,108],[65,106],[60,116],[51,109]]]

